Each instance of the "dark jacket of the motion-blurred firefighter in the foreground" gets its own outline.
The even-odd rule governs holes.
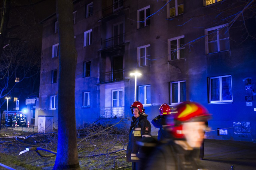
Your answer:
[[[184,150],[180,145],[170,141],[153,151],[145,169],[147,170],[196,170],[202,169],[195,158],[198,158],[198,149]]]

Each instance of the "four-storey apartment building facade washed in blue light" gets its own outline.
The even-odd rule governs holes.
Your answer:
[[[77,0],[76,125],[129,127],[140,101],[151,122],[159,107],[203,104],[209,139],[256,138],[255,13],[253,4],[220,0]],[[43,24],[39,116],[57,124],[58,23]],[[139,72],[136,77],[130,73]],[[135,94],[136,87],[136,94]],[[55,126],[57,127],[57,126]],[[152,127],[153,135],[158,129]]]

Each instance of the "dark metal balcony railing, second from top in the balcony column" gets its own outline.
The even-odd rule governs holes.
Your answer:
[[[124,34],[117,35],[115,37],[108,38],[102,42],[102,50],[108,48],[114,48],[124,43]]]

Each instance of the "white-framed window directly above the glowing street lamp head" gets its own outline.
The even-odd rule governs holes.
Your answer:
[[[137,48],[139,67],[150,65],[150,44]]]

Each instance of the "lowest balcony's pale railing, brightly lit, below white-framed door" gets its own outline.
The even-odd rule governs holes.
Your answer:
[[[124,118],[124,107],[100,107],[100,118]]]

